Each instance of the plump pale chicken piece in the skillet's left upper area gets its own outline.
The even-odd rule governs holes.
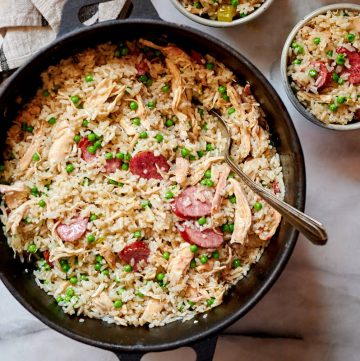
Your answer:
[[[53,143],[49,149],[48,159],[52,168],[57,166],[70,154],[75,133],[67,121],[61,122],[55,129]]]

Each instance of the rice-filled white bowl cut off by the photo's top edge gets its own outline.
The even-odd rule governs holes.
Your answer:
[[[189,19],[206,26],[227,28],[251,21],[274,0],[171,0]]]

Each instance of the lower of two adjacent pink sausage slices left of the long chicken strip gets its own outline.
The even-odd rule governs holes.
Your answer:
[[[223,234],[219,229],[206,228],[200,230],[185,226],[180,234],[185,241],[203,248],[218,248],[224,242]]]

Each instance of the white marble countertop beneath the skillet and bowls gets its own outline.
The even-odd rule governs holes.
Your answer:
[[[336,133],[307,121],[282,88],[279,58],[292,26],[310,11],[336,2],[276,0],[258,20],[228,30],[192,23],[169,1],[154,0],[161,17],[213,34],[238,49],[271,80],[284,100],[303,146],[310,215],[323,221],[329,243],[300,236],[284,273],[265,298],[221,336],[215,360],[356,361],[360,353],[360,132]],[[352,0],[359,3],[359,0]],[[0,284],[0,359],[4,361],[116,360],[73,341],[28,313]],[[238,335],[234,335],[237,333]],[[193,360],[190,349],[143,360]]]

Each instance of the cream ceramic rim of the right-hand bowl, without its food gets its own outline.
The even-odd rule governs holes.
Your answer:
[[[298,33],[298,31],[306,24],[308,23],[311,19],[313,19],[314,17],[324,14],[325,12],[329,11],[329,10],[337,10],[337,9],[348,9],[348,10],[356,10],[360,12],[360,5],[357,4],[352,4],[352,3],[337,3],[337,4],[331,4],[331,5],[326,5],[326,6],[322,6],[314,11],[312,11],[311,13],[309,13],[308,15],[306,15],[302,20],[300,20],[291,30],[291,32],[289,33],[284,46],[283,46],[283,50],[281,53],[281,64],[280,64],[280,68],[281,68],[281,77],[282,77],[282,82],[285,88],[285,92],[288,96],[288,98],[290,99],[291,103],[293,104],[293,106],[310,122],[322,127],[322,128],[326,128],[326,129],[331,129],[331,130],[340,130],[340,131],[350,131],[350,130],[356,130],[356,129],[360,129],[360,121],[357,123],[353,123],[353,124],[325,124],[323,122],[321,122],[319,119],[317,119],[315,117],[315,115],[313,115],[304,105],[301,104],[301,102],[297,99],[297,97],[295,96],[293,90],[291,89],[290,83],[289,83],[289,79],[287,76],[287,65],[288,65],[288,50],[290,48],[291,43],[293,42],[293,39],[295,38],[296,34]]]

